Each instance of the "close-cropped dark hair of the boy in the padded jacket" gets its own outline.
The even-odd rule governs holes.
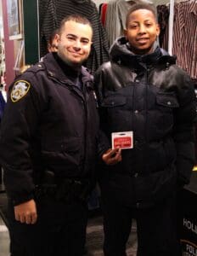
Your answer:
[[[132,7],[127,12],[127,18],[126,18],[126,27],[128,25],[129,17],[132,14],[132,12],[138,10],[138,9],[149,9],[155,16],[155,20],[157,21],[157,10],[155,8],[155,5],[153,3],[134,3]]]

